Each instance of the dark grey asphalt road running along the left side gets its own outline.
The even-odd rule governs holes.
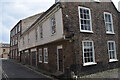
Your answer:
[[[32,80],[52,80],[50,78],[48,78],[45,75],[42,74],[38,74],[20,64],[17,64],[15,62],[11,62],[9,60],[3,60],[2,61],[2,69],[4,72],[5,77],[7,78],[11,78],[11,79],[22,79],[22,78],[28,78],[28,79],[32,79]],[[26,80],[25,79],[25,80]]]

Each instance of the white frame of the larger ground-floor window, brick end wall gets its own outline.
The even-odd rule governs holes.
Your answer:
[[[87,62],[87,63],[85,63],[85,58],[84,58],[84,48],[85,48],[84,47],[84,42],[92,42],[93,62]],[[93,43],[93,41],[92,40],[84,40],[84,41],[82,41],[82,47],[83,47],[83,66],[89,66],[89,65],[95,65],[95,64],[97,64],[95,62],[95,51],[94,51],[94,43]]]

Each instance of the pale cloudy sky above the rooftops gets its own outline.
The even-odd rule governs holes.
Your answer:
[[[112,0],[118,8],[120,0]],[[10,30],[19,20],[46,11],[55,0],[1,0],[0,43],[9,43]]]

